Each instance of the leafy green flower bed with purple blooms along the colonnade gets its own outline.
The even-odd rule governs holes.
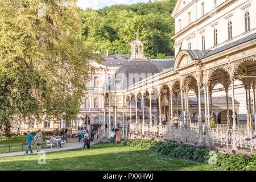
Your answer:
[[[143,148],[168,155],[170,158],[193,160],[197,163],[208,163],[215,165],[221,170],[256,170],[256,155],[226,154],[214,150],[213,146],[207,149],[188,147],[183,142],[169,142],[155,138],[151,139],[129,139],[121,142],[123,146]],[[195,143],[196,144],[196,143]]]

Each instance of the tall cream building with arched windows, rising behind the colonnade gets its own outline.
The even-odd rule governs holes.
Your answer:
[[[246,0],[177,1],[172,13],[175,19],[175,35],[172,36],[175,39],[175,56],[181,49],[213,50],[254,34],[256,21],[250,17],[255,17],[255,7],[256,1]],[[240,80],[236,80],[234,85],[236,100],[240,103],[237,120],[239,124],[246,124],[245,89]],[[223,85],[214,86],[213,97],[225,95]],[[231,97],[230,91],[228,96]],[[226,121],[226,113],[226,110],[216,110],[214,116],[219,121],[221,118]]]

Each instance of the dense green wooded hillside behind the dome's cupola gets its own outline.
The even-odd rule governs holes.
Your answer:
[[[130,53],[129,43],[145,40],[145,55],[163,58],[174,55],[174,19],[171,17],[176,0],[163,0],[133,5],[113,5],[100,10],[82,11],[82,36],[102,54]]]

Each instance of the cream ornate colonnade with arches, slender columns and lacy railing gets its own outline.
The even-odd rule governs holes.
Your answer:
[[[117,126],[117,106],[123,108],[123,120],[130,123],[122,125],[123,138],[127,137],[127,126],[136,134],[161,135],[167,138],[176,138],[183,141],[199,142],[206,146],[210,143],[230,144],[256,148],[255,126],[255,77],[256,77],[256,40],[245,42],[239,46],[212,53],[199,50],[182,50],[175,59],[174,68],[161,72],[129,86],[125,90],[110,91],[105,88],[104,96],[106,105],[113,107],[114,123]],[[204,56],[200,56],[200,53]],[[205,56],[207,55],[207,56]],[[246,93],[246,127],[237,125],[238,109],[235,102],[234,81],[242,82]],[[210,118],[213,117],[212,90],[217,84],[223,85],[226,92],[227,123],[210,128]],[[253,91],[253,96],[251,96]],[[192,112],[189,109],[189,93],[195,93],[197,99],[198,122],[191,123]],[[232,93],[232,102],[228,102],[228,93]],[[142,98],[142,113],[138,112],[137,104],[132,106],[131,100]],[[253,107],[252,102],[253,100]],[[180,103],[179,103],[180,102]],[[202,104],[204,103],[204,108]],[[137,103],[137,102],[135,102]],[[146,108],[144,108],[144,106]],[[136,119],[131,121],[131,110],[135,107]],[[152,125],[152,107],[158,109],[158,122]],[[195,108],[194,108],[195,109]],[[222,108],[223,109],[223,108]],[[110,115],[109,109],[109,115]],[[128,111],[127,111],[128,110]],[[168,110],[168,111],[166,111]],[[202,123],[204,110],[205,124]],[[232,110],[232,115],[229,115]],[[162,123],[162,113],[167,113],[167,125]],[[173,115],[177,113],[181,125],[174,126]],[[140,115],[142,114],[142,121]],[[230,117],[232,121],[230,122]],[[155,120],[157,120],[155,118]],[[109,119],[110,121],[110,119]],[[156,124],[157,123],[157,124]],[[109,123],[110,124],[110,123]],[[126,135],[125,135],[126,133]],[[249,140],[250,138],[250,140]]]

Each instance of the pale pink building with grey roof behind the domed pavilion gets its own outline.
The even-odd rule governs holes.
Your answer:
[[[104,96],[102,95],[102,86],[105,82],[109,82],[115,72],[125,65],[131,59],[130,54],[126,55],[103,55],[105,62],[102,64],[92,61],[95,69],[95,74],[92,79],[86,83],[86,96],[82,98],[84,103],[80,107],[80,114],[76,121],[72,121],[72,125],[81,126],[82,123],[104,123]],[[148,58],[147,58],[148,59]],[[161,71],[164,71],[174,65],[174,59],[153,59],[150,60],[157,65]],[[134,101],[135,103],[135,101]],[[138,105],[142,109],[141,105]],[[134,110],[135,112],[135,110]],[[110,115],[110,123],[113,123],[113,115]],[[155,113],[155,117],[157,114]],[[122,126],[122,108],[117,109],[118,125]],[[105,114],[105,122],[109,123],[109,113]]]

